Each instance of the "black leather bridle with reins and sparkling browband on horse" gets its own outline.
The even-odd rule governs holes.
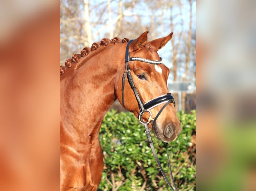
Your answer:
[[[128,62],[129,61],[140,61],[140,62],[145,62],[145,63],[148,63],[148,64],[156,64],[156,65],[159,65],[159,64],[162,64],[162,58],[160,58],[159,61],[153,61],[153,60],[148,60],[148,59],[145,59],[145,58],[140,58],[140,57],[132,57],[130,58],[130,53],[129,53],[129,45],[130,43],[132,42],[133,40],[130,40],[126,46],[126,50],[125,50],[125,70],[124,70],[124,74],[123,74],[123,78],[122,78],[122,103],[123,103],[123,106],[125,107],[124,105],[124,85],[125,85],[125,74],[126,74],[126,71],[127,71],[127,78],[128,78],[128,82],[136,96],[136,99],[139,103],[139,106],[140,106],[140,112],[139,112],[139,120],[140,122],[144,125],[145,127],[145,133],[147,135],[147,138],[148,138],[148,142],[149,142],[149,145],[150,145],[150,148],[152,150],[152,153],[155,157],[155,160],[156,160],[156,163],[158,165],[158,167],[160,168],[160,171],[165,179],[165,181],[167,182],[167,184],[169,185],[169,187],[171,188],[172,191],[177,191],[177,188],[175,186],[175,183],[174,183],[174,179],[173,179],[173,176],[172,176],[172,172],[171,172],[171,166],[170,166],[170,159],[169,159],[169,154],[168,154],[168,143],[165,143],[166,144],[166,150],[167,150],[167,156],[168,156],[168,164],[169,164],[169,170],[170,170],[170,174],[171,174],[171,180],[172,180],[172,183],[173,183],[173,186],[175,188],[175,190],[173,189],[173,187],[171,186],[171,183],[169,182],[169,180],[167,179],[164,171],[163,171],[163,168],[160,164],[160,161],[157,157],[157,154],[156,154],[156,151],[155,151],[155,147],[153,145],[153,141],[152,141],[152,138],[151,138],[151,135],[150,135],[150,130],[148,128],[148,123],[153,121],[153,124],[152,124],[152,127],[155,125],[155,122],[156,122],[156,119],[158,118],[158,116],[160,115],[160,113],[163,111],[163,109],[169,104],[169,103],[173,103],[174,106],[175,106],[175,101],[174,101],[174,98],[173,96],[168,93],[168,94],[165,94],[165,95],[161,95],[161,96],[158,96],[156,98],[153,98],[151,99],[150,101],[146,102],[146,103],[143,103],[143,101],[141,100],[140,98],[140,95],[139,93],[137,92],[136,90],[136,87],[134,85],[134,82],[133,82],[133,79],[132,79],[132,75],[131,75],[131,71],[130,71],[130,68],[128,66]],[[160,104],[164,104],[164,106],[160,109],[160,111],[158,112],[158,114],[156,115],[156,117],[153,119],[152,118],[152,113],[150,111],[150,109],[160,105]],[[142,116],[145,112],[148,112],[149,113],[149,118],[148,118],[148,121],[144,122],[143,119],[142,119]],[[158,135],[158,133],[156,132],[157,136],[159,139],[160,136]]]

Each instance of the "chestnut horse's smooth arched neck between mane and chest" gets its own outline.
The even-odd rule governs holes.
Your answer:
[[[122,80],[120,71],[125,66],[124,49],[123,43],[110,45],[61,81],[63,123],[73,126],[85,136],[90,135],[93,128],[99,132],[107,110],[116,99],[115,84]]]

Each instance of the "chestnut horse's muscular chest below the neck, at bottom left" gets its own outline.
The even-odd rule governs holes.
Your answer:
[[[97,190],[103,170],[103,156],[98,144],[84,145],[81,152],[70,146],[62,149],[61,190]]]

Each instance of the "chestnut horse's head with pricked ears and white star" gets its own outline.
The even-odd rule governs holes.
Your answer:
[[[129,60],[127,64],[136,91],[143,103],[168,94],[167,79],[169,69],[161,62],[155,61],[161,60],[157,51],[172,38],[172,33],[170,33],[166,37],[147,42],[147,33],[148,31],[141,34],[137,39],[130,42],[127,47],[129,57],[138,58]],[[116,84],[117,98],[126,109],[139,117],[141,106],[132,89],[131,82],[128,82],[127,79],[123,86],[122,81],[118,80]],[[123,95],[122,90],[124,91]],[[164,109],[161,110],[163,106]],[[157,115],[160,110],[161,113]],[[152,116],[150,116],[151,114]],[[148,127],[153,130],[155,137],[164,142],[174,141],[181,131],[180,121],[177,118],[173,103],[167,105],[160,103],[150,108],[150,111],[143,113],[142,121],[148,121]]]

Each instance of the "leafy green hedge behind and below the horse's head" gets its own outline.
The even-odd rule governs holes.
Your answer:
[[[196,190],[196,111],[177,113],[181,133],[169,143],[168,151],[175,184],[179,190]],[[162,167],[170,179],[166,148],[151,133]],[[130,112],[107,112],[99,136],[104,170],[100,191],[171,190],[166,184],[147,142],[144,126]]]

